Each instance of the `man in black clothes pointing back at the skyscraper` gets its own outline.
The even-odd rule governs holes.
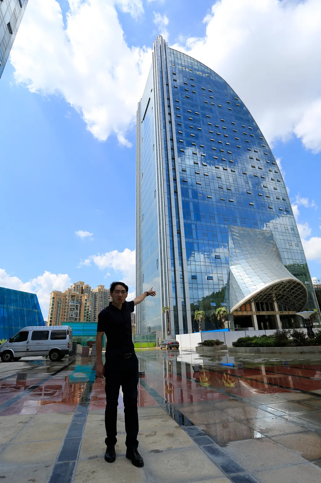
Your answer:
[[[117,406],[119,389],[122,386],[126,429],[126,458],[137,467],[144,466],[138,448],[138,358],[135,355],[131,333],[130,313],[148,295],[154,297],[153,287],[131,302],[126,302],[128,287],[123,282],[112,282],[112,302],[98,315],[96,350],[96,377],[105,377],[106,410],[105,426],[107,445],[105,460],[112,463],[116,459]],[[102,339],[107,337],[105,365],[102,363]]]

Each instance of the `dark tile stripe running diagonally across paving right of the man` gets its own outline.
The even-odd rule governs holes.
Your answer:
[[[165,398],[156,392],[143,379],[140,385],[165,409],[167,414],[176,421],[181,428],[192,438],[197,446],[204,451],[212,462],[220,468],[223,473],[234,483],[258,483],[258,481],[237,461],[215,443],[199,427],[195,426],[190,419],[184,416],[178,409],[174,408]],[[54,482],[51,482],[54,483]]]

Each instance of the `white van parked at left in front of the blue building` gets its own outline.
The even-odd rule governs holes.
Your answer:
[[[30,355],[49,355],[50,360],[59,361],[71,353],[71,344],[69,326],[24,327],[0,345],[0,357],[2,362],[11,362]]]

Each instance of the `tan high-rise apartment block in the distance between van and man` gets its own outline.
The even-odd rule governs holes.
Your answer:
[[[83,281],[72,284],[65,292],[51,292],[49,326],[65,322],[97,322],[98,313],[110,302],[110,289],[104,285],[91,286]]]

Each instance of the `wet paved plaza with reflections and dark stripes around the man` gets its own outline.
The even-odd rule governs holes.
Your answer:
[[[126,459],[119,397],[115,463],[104,460],[96,358],[0,364],[0,479],[10,483],[321,481],[321,357],[137,351],[140,453]],[[231,364],[243,362],[243,369]],[[201,364],[199,372],[193,366]]]

